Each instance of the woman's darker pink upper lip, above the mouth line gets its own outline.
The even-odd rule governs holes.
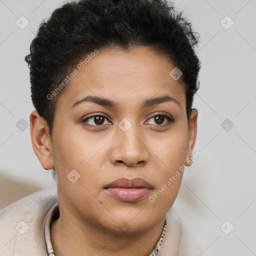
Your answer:
[[[152,189],[152,185],[142,178],[118,178],[108,183],[104,188],[108,187],[146,187]]]

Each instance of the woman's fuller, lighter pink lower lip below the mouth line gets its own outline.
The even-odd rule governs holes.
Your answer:
[[[108,187],[104,189],[108,194],[123,202],[134,202],[145,197],[151,189],[146,187]]]

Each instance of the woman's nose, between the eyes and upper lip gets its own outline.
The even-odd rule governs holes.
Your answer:
[[[114,165],[130,167],[143,166],[148,162],[148,148],[142,132],[138,132],[134,125],[123,131],[117,128],[113,137],[113,150],[110,160]]]

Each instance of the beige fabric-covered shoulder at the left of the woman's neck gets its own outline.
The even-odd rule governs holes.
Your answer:
[[[45,216],[57,204],[57,188],[42,190],[0,210],[0,255],[46,255]]]

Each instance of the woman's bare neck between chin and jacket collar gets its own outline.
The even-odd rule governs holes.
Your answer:
[[[64,209],[63,209],[64,210]],[[59,208],[59,218],[50,227],[55,256],[148,256],[158,242],[165,217],[139,233],[115,233],[102,229]],[[68,220],[68,221],[67,221]]]

